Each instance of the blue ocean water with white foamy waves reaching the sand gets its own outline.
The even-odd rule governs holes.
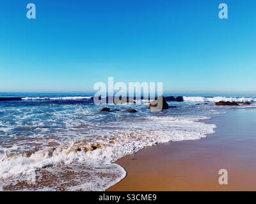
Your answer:
[[[95,105],[92,96],[0,93],[0,189],[104,191],[126,175],[117,159],[157,143],[204,138],[217,128],[205,120],[256,102],[243,96],[183,96],[184,102],[152,112],[149,101]],[[252,105],[215,106],[218,101]],[[100,112],[104,107],[111,112]]]

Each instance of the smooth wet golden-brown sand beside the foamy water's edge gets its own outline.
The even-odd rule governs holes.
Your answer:
[[[108,191],[256,191],[256,109],[237,108],[204,122],[216,124],[216,133],[118,160],[127,177]],[[228,185],[218,183],[223,168]]]

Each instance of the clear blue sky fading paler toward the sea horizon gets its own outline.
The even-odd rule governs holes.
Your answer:
[[[254,0],[1,0],[0,91],[88,92],[114,77],[256,94],[255,10]]]

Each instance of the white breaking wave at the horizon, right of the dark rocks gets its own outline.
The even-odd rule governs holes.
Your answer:
[[[191,102],[220,102],[220,101],[236,101],[236,102],[254,102],[256,98],[237,98],[237,97],[200,97],[200,96],[184,96],[184,101]]]

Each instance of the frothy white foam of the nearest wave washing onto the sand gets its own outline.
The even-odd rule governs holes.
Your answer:
[[[90,161],[90,164],[88,163],[88,165],[95,165],[95,167],[97,167],[99,161],[106,165],[117,165],[114,163],[115,161],[129,154],[138,152],[144,147],[156,145],[157,143],[198,140],[214,133],[214,128],[216,128],[216,126],[201,122],[201,120],[205,119],[209,118],[197,117],[193,119],[177,119],[173,117],[149,117],[148,120],[153,121],[150,122],[149,126],[154,125],[154,130],[149,129],[149,132],[153,132],[148,133],[148,135],[143,136],[143,130],[141,131],[140,127],[138,127],[138,129],[135,128],[134,130],[128,130],[127,133],[122,133],[123,135],[111,145],[109,143],[109,139],[111,138],[109,137],[95,138],[95,140],[90,142],[83,140],[73,142],[69,147],[39,150],[33,153],[30,157],[15,156],[11,159],[8,159],[7,157],[1,158],[0,175],[3,179],[8,179],[13,176],[19,177],[20,174],[40,170],[44,168],[44,166],[58,163],[68,165],[75,161],[80,161],[82,163]],[[147,121],[145,123],[147,124]],[[77,149],[85,148],[85,146],[86,148],[90,148],[90,145],[96,142],[101,145],[101,147],[93,151],[88,150],[86,153],[83,150],[77,151]],[[93,162],[95,162],[95,164],[93,164]],[[104,191],[109,187],[114,186],[116,183],[120,182],[120,180],[124,179],[127,173],[122,166],[119,166],[118,171],[120,174],[119,178],[113,180],[113,182],[108,182],[107,186],[104,184],[104,188],[95,189],[92,186],[89,188],[85,186],[83,190]],[[70,190],[76,191],[76,189],[77,188],[74,186],[74,188]]]

